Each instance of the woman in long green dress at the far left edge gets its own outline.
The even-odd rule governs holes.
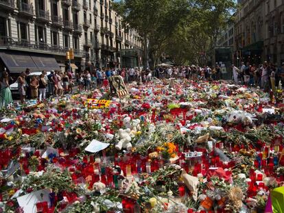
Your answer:
[[[12,93],[9,86],[9,75],[6,71],[2,73],[0,85],[0,110],[3,110],[7,108],[9,104],[13,103]]]

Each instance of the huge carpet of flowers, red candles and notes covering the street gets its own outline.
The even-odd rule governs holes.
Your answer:
[[[283,90],[172,83],[0,112],[0,212],[283,211]]]

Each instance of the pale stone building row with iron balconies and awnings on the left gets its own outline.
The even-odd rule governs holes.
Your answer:
[[[73,68],[120,66],[121,49],[141,45],[137,32],[123,29],[109,0],[0,0],[2,70],[64,70],[71,48]]]

